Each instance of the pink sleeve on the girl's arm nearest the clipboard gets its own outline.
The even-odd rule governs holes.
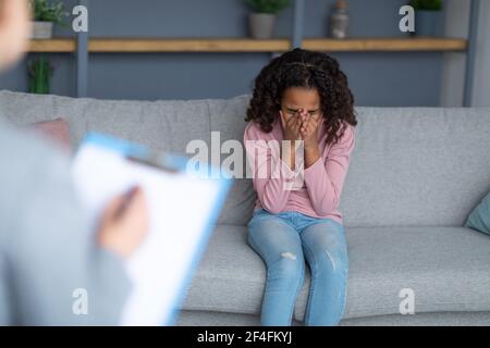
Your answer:
[[[281,144],[261,134],[257,125],[247,126],[244,144],[258,199],[264,209],[277,214],[286,206],[298,173],[281,160]]]

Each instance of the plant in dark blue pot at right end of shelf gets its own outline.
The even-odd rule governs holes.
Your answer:
[[[415,35],[437,36],[442,24],[442,0],[412,0],[415,10]]]

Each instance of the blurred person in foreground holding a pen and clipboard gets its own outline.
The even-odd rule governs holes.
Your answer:
[[[0,0],[0,70],[26,51],[29,30],[28,1]],[[115,198],[89,231],[69,159],[1,111],[0,163],[0,325],[119,324],[131,286],[123,262],[148,231],[144,192]]]

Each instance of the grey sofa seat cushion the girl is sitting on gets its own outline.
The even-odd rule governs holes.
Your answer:
[[[416,312],[490,310],[490,238],[463,227],[346,228],[350,256],[344,318],[399,313],[405,288]],[[262,260],[246,227],[218,226],[193,281],[185,310],[259,314]],[[309,276],[297,300],[302,320]]]

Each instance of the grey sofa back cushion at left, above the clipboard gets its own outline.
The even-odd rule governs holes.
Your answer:
[[[74,148],[89,132],[179,153],[185,153],[191,140],[210,139],[208,108],[200,101],[115,101],[2,91],[0,108],[17,125],[64,115]]]

